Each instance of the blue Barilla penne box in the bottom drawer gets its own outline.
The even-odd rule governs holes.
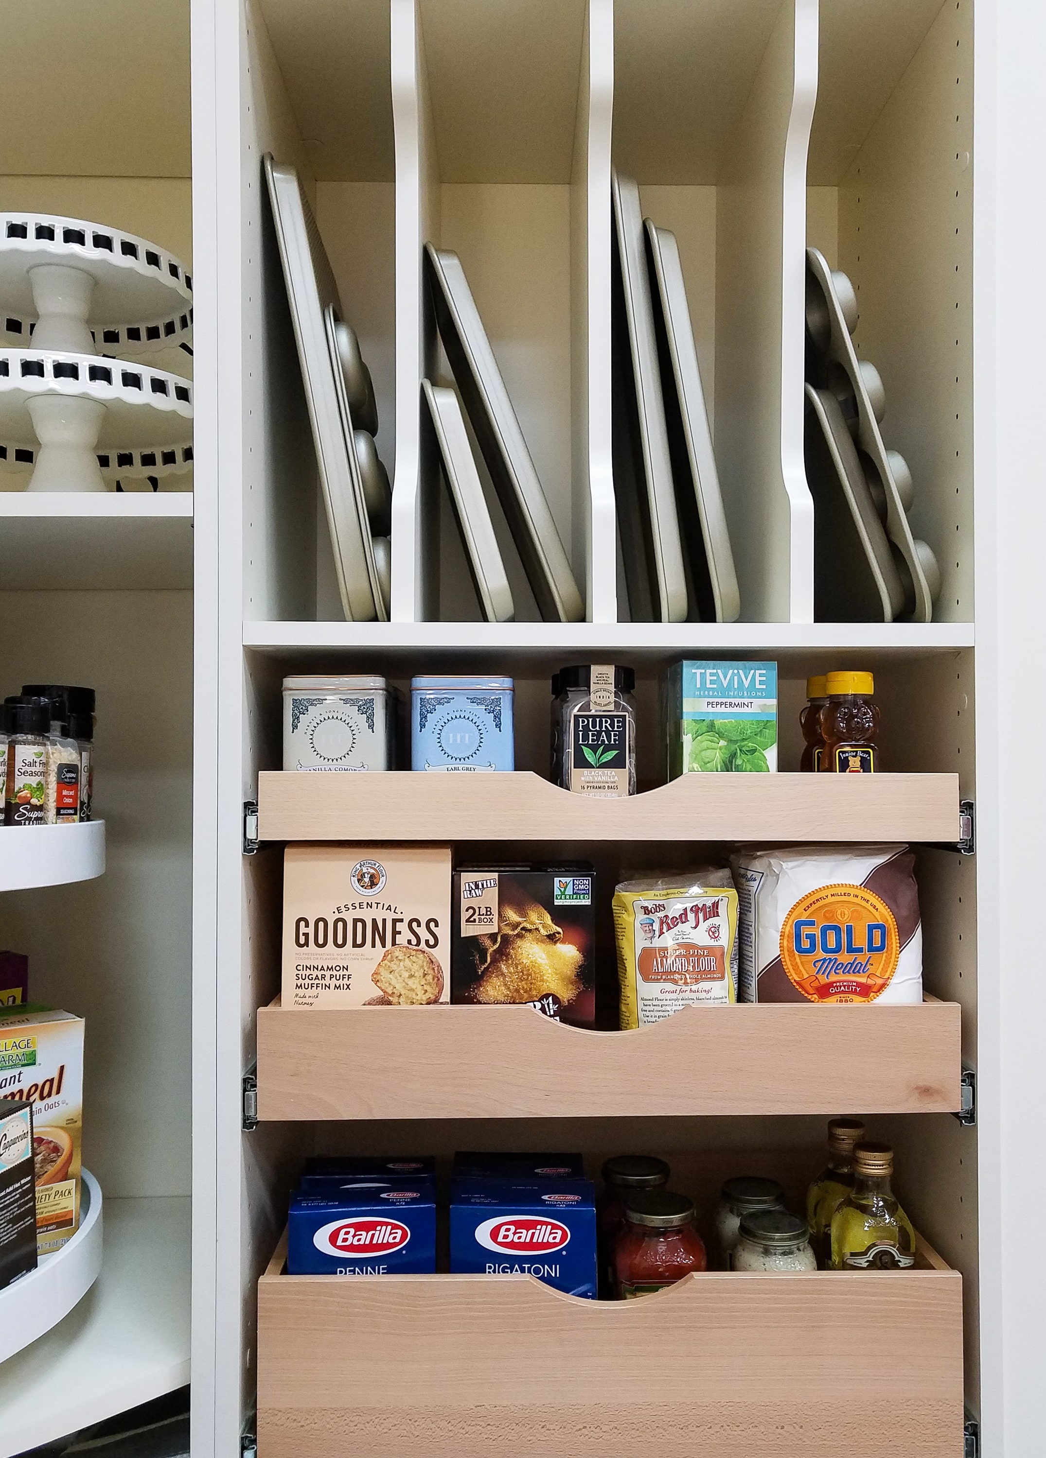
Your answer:
[[[287,1215],[289,1276],[430,1276],[436,1190],[430,1180],[387,1188],[298,1190]]]

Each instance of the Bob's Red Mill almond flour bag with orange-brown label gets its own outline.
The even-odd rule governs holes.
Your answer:
[[[737,1000],[737,891],[729,870],[623,881],[614,891],[621,1028],[691,1003]]]

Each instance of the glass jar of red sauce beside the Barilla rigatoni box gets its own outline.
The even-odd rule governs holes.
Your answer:
[[[705,1242],[694,1229],[693,1200],[671,1190],[638,1190],[624,1207],[614,1242],[619,1299],[646,1296],[690,1271],[708,1270]]]

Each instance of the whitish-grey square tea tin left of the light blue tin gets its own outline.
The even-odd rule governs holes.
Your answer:
[[[284,770],[390,770],[395,698],[368,674],[283,679]]]

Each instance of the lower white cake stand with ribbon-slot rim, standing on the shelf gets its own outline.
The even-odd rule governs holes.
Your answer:
[[[34,434],[39,449],[19,445]],[[0,350],[0,468],[32,465],[26,490],[105,491],[102,471],[159,477],[191,461],[190,381],[98,354]]]

